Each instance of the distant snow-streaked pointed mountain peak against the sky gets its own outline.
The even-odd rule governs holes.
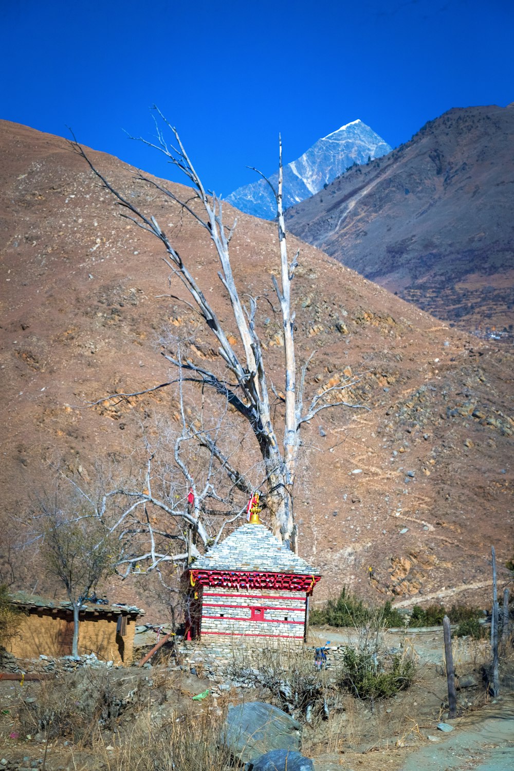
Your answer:
[[[314,195],[354,163],[366,163],[368,157],[379,158],[390,150],[391,146],[361,120],[341,126],[284,167],[284,208]],[[270,182],[277,189],[278,172]],[[277,204],[264,180],[239,187],[227,196],[227,201],[264,220],[277,216]]]

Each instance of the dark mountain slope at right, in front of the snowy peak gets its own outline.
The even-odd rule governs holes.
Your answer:
[[[451,109],[287,212],[359,273],[471,330],[514,321],[514,106]]]

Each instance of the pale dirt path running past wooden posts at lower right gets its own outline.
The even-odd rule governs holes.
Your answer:
[[[311,640],[321,644],[351,645],[358,631],[348,628],[313,628]],[[371,715],[361,714],[358,742],[348,733],[348,719],[341,728],[338,752],[323,753],[314,761],[316,771],[338,771],[341,765],[356,771],[508,771],[514,769],[514,692],[512,678],[501,685],[501,696],[484,704],[481,663],[490,657],[489,641],[455,638],[453,652],[459,677],[472,674],[475,689],[459,693],[472,709],[448,721],[452,732],[437,729],[445,701],[444,641],[442,628],[389,631],[389,648],[412,650],[418,662],[418,682],[398,699],[388,702],[382,722],[371,726]],[[319,644],[316,642],[316,644]],[[385,709],[385,708],[384,708]],[[368,730],[366,730],[368,722]],[[339,754],[338,754],[339,753]]]

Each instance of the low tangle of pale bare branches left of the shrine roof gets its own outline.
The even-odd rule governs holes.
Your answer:
[[[263,463],[247,467],[245,475],[235,470],[247,437],[237,436],[228,402],[218,400],[214,415],[210,403],[184,393],[185,385],[179,378],[178,423],[155,419],[146,429],[140,424],[143,436],[139,446],[132,444],[129,463],[92,470],[92,483],[66,468],[54,469],[70,495],[116,538],[116,572],[123,578],[156,574],[170,591],[176,591],[186,564],[244,517],[248,498],[265,476]]]

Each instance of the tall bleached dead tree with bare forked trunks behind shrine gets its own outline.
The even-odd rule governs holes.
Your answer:
[[[156,108],[154,108],[156,109]],[[272,190],[277,201],[277,227],[278,241],[280,246],[281,261],[281,280],[277,281],[273,277],[274,291],[281,308],[282,328],[284,333],[284,412],[281,419],[284,422],[283,431],[279,438],[279,433],[272,401],[270,399],[270,390],[277,396],[270,383],[269,376],[264,364],[263,348],[256,329],[256,311],[257,301],[250,297],[247,305],[241,301],[240,292],[237,289],[233,278],[232,264],[230,262],[230,241],[237,224],[233,221],[231,227],[223,223],[222,202],[216,194],[207,193],[203,183],[197,174],[197,171],[191,163],[190,157],[186,153],[183,143],[176,129],[164,118],[160,110],[156,113],[163,120],[163,123],[173,135],[173,143],[168,144],[160,130],[156,120],[157,140],[156,143],[139,140],[159,150],[166,158],[173,163],[186,176],[193,187],[193,195],[188,200],[181,200],[173,190],[166,187],[165,183],[153,180],[144,173],[136,173],[136,180],[146,183],[156,190],[160,191],[164,197],[169,198],[174,203],[179,204],[183,211],[190,214],[197,221],[200,227],[203,227],[207,237],[213,242],[220,261],[220,271],[218,276],[226,291],[230,301],[230,307],[233,313],[233,319],[237,325],[237,332],[243,344],[244,355],[240,356],[234,351],[230,344],[226,328],[217,317],[213,306],[203,294],[197,279],[193,278],[190,269],[187,267],[176,247],[170,241],[170,238],[163,231],[156,218],[152,215],[146,215],[139,210],[130,200],[124,197],[102,173],[96,169],[92,161],[86,155],[78,143],[72,143],[74,149],[89,164],[89,167],[96,174],[107,190],[112,193],[118,203],[123,207],[123,217],[133,221],[138,227],[152,234],[163,245],[166,262],[173,275],[175,275],[190,294],[193,300],[193,307],[200,311],[203,321],[210,329],[210,333],[216,338],[218,353],[223,359],[228,377],[220,375],[208,369],[208,366],[194,362],[192,359],[181,359],[176,352],[165,350],[163,355],[182,373],[184,381],[198,383],[202,388],[213,389],[219,396],[226,399],[228,404],[235,409],[242,418],[247,421],[257,445],[260,450],[266,470],[265,483],[267,488],[266,502],[272,515],[274,532],[284,544],[287,544],[296,550],[296,527],[294,526],[294,478],[297,469],[298,453],[301,446],[301,427],[321,412],[335,406],[355,407],[356,405],[344,402],[341,398],[341,392],[355,385],[355,380],[348,379],[324,392],[315,393],[308,404],[304,404],[304,380],[306,365],[301,369],[301,374],[297,378],[297,362],[294,352],[294,311],[291,310],[291,284],[294,280],[294,271],[297,268],[298,254],[290,261],[287,254],[287,238],[284,224],[284,210],[282,204],[282,146],[279,141],[279,177],[278,188]],[[132,137],[134,138],[134,137]],[[263,175],[261,175],[263,176]],[[200,214],[193,201],[200,202]],[[204,440],[209,443],[208,439]],[[223,458],[216,443],[210,446],[213,456]],[[217,454],[219,453],[219,454]],[[227,464],[220,460],[228,471]],[[233,470],[235,476],[237,470]],[[200,521],[195,518],[198,532],[200,534]]]

